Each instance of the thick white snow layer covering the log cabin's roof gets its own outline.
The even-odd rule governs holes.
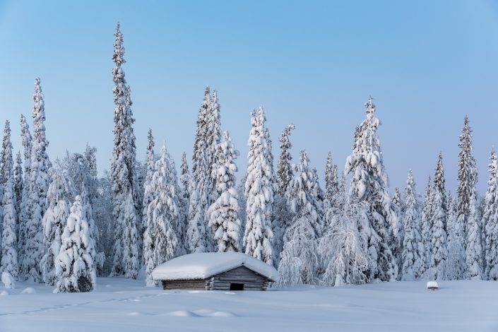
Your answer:
[[[155,280],[206,279],[218,273],[245,266],[273,281],[278,272],[273,266],[241,252],[205,252],[179,256],[154,269]]]

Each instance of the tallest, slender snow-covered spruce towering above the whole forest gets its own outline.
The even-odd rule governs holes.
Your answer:
[[[136,198],[136,146],[131,112],[129,86],[126,85],[121,65],[124,60],[123,35],[117,24],[114,42],[114,150],[111,164],[112,204],[114,206],[114,254],[112,275],[138,275],[138,223],[140,218]],[[125,254],[126,252],[126,254]],[[136,267],[135,267],[136,266]]]

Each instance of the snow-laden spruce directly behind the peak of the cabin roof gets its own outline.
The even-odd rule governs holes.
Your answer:
[[[209,207],[209,226],[213,229],[217,251],[237,252],[240,251],[240,220],[238,194],[235,189],[235,159],[239,151],[235,150],[227,131],[223,133],[223,141],[218,144],[216,155],[211,177],[216,180],[219,196]]]

